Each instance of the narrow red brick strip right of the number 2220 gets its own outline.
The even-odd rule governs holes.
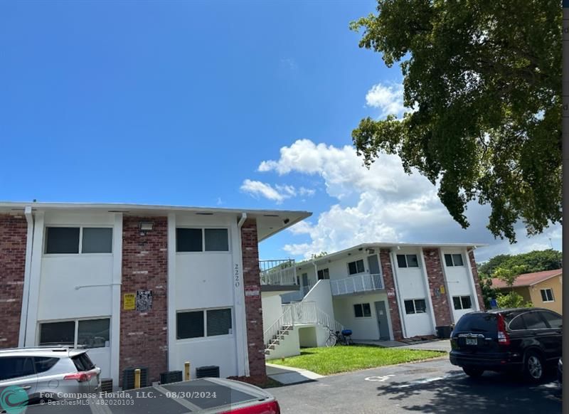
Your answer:
[[[260,292],[259,250],[257,240],[257,221],[247,219],[241,228],[241,248],[243,250],[243,285],[253,286]],[[265,344],[262,337],[261,297],[245,300],[247,319],[247,347],[249,353],[249,374],[257,381],[266,378]]]

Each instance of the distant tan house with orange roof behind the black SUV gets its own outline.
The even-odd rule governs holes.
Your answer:
[[[532,302],[533,306],[551,309],[558,314],[563,312],[562,283],[563,269],[519,275],[512,288],[508,287],[504,280],[492,279],[494,289],[500,290],[502,293],[514,290],[514,292],[521,294],[523,299]]]

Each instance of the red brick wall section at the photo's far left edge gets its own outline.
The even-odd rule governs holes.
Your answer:
[[[0,348],[18,346],[28,223],[0,215]]]

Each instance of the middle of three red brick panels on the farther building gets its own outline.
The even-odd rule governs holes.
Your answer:
[[[422,250],[427,267],[427,279],[429,280],[429,290],[431,294],[432,307],[435,311],[435,322],[438,326],[452,324],[450,317],[450,307],[448,294],[445,287],[445,275],[442,272],[442,263],[438,249],[424,248]],[[440,292],[440,287],[444,287],[444,293]]]

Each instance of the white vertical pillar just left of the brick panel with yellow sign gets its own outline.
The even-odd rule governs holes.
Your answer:
[[[112,228],[112,285],[111,285],[111,378],[119,385],[120,365],[120,292],[122,283],[122,213],[115,213]]]

